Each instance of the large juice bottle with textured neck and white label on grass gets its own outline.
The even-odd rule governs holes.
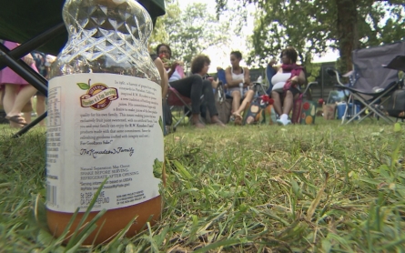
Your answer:
[[[106,180],[87,221],[106,214],[84,244],[114,238],[137,217],[131,237],[162,210],[162,97],[147,53],[152,21],[135,0],[67,0],[63,17],[69,38],[48,91],[48,227],[59,237],[79,208],[73,232]]]

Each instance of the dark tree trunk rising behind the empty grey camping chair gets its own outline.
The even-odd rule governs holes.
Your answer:
[[[359,46],[358,11],[359,0],[335,0],[338,11],[338,45],[340,70],[352,69],[351,51]]]

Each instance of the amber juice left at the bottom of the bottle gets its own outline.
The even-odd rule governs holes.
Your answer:
[[[138,205],[116,208],[106,211],[104,216],[96,222],[97,228],[88,238],[85,239],[84,245],[100,244],[113,239],[123,228],[126,228],[132,218],[137,217],[134,225],[127,231],[127,237],[135,236],[142,228],[147,228],[147,221],[150,225],[154,225],[160,218],[162,211],[162,197],[154,197],[146,202]],[[98,212],[91,212],[85,221],[93,219]],[[70,236],[75,231],[77,224],[83,217],[84,213],[78,213],[69,233],[66,236],[65,243],[68,242]],[[72,218],[71,213],[62,213],[46,209],[46,219],[51,233],[56,237],[60,237],[64,232],[67,224]],[[103,228],[101,228],[102,224]],[[97,235],[98,233],[98,235]],[[97,236],[97,237],[96,237]],[[96,238],[95,238],[96,237]]]

